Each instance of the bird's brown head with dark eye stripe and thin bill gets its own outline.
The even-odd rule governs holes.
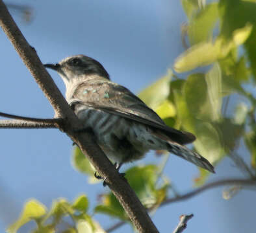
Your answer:
[[[70,83],[74,78],[86,78],[92,75],[110,79],[108,72],[99,61],[84,55],[70,56],[59,63],[45,64],[44,67],[57,71],[65,83]]]

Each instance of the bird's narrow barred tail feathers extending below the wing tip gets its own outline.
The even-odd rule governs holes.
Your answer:
[[[212,164],[209,161],[207,161],[207,159],[199,155],[199,153],[191,151],[188,148],[186,148],[186,146],[182,146],[181,144],[178,144],[176,142],[168,141],[168,145],[168,151],[170,151],[171,153],[183,159],[186,159],[187,161],[192,162],[197,166],[208,170],[209,172],[215,173]]]

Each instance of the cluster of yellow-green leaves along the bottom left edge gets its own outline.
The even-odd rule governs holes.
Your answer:
[[[86,195],[80,195],[69,203],[61,198],[53,202],[51,209],[42,203],[31,199],[25,203],[19,219],[7,228],[7,232],[14,233],[29,221],[36,223],[34,233],[103,233],[99,224],[88,214],[89,201]],[[63,229],[63,230],[62,230]]]

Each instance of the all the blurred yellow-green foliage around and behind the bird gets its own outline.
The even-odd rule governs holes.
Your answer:
[[[256,1],[181,0],[181,4],[187,16],[182,39],[189,48],[173,64],[174,71],[168,70],[166,76],[138,96],[168,126],[194,133],[197,137],[194,150],[214,166],[225,157],[236,158],[236,165],[243,166],[238,169],[247,171],[248,177],[255,177]],[[179,72],[186,72],[186,77],[181,77]],[[244,157],[244,151],[240,155],[241,143],[248,150],[248,158]],[[133,166],[125,171],[127,181],[149,210],[156,210],[172,188],[170,180],[162,174],[166,161],[162,156],[159,164]],[[76,170],[89,177],[90,183],[98,182],[95,169],[77,147],[72,162]],[[205,183],[208,177],[209,172],[200,168],[195,184]],[[241,188],[225,190],[225,199],[233,197]],[[129,221],[110,192],[101,195],[94,213]],[[71,223],[66,223],[65,228],[67,216]],[[65,229],[63,232],[103,232],[88,214],[85,195],[73,203],[59,199],[49,212],[38,201],[31,200],[8,232],[16,232],[28,221],[36,223],[34,232],[56,232],[59,225]]]

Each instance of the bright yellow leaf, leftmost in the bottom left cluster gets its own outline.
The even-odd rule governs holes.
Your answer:
[[[25,206],[23,208],[23,211],[21,215],[19,216],[19,219],[10,225],[6,229],[7,232],[14,233],[23,226],[25,223],[31,221],[31,220],[37,220],[40,217],[44,216],[46,214],[46,207],[42,205],[39,201],[36,201],[36,199],[31,199],[27,203],[25,203]]]

